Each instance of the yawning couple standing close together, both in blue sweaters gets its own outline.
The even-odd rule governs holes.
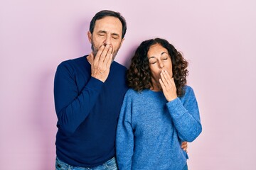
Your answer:
[[[59,64],[55,169],[188,169],[187,142],[202,130],[188,62],[155,38],[137,47],[127,69],[114,61],[126,30],[120,13],[96,13],[90,55]]]

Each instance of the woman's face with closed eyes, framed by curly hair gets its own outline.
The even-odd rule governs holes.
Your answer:
[[[166,70],[170,77],[173,77],[171,57],[166,48],[159,44],[151,45],[147,52],[147,57],[149,59],[149,68],[153,86],[154,84],[159,84],[159,79],[161,78],[160,73],[162,70]]]

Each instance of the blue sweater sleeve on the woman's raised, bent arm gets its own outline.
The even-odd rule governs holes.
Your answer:
[[[174,121],[178,137],[183,141],[192,142],[202,132],[202,125],[196,96],[191,87],[186,89],[184,98],[184,103],[180,98],[176,98],[166,105]]]

